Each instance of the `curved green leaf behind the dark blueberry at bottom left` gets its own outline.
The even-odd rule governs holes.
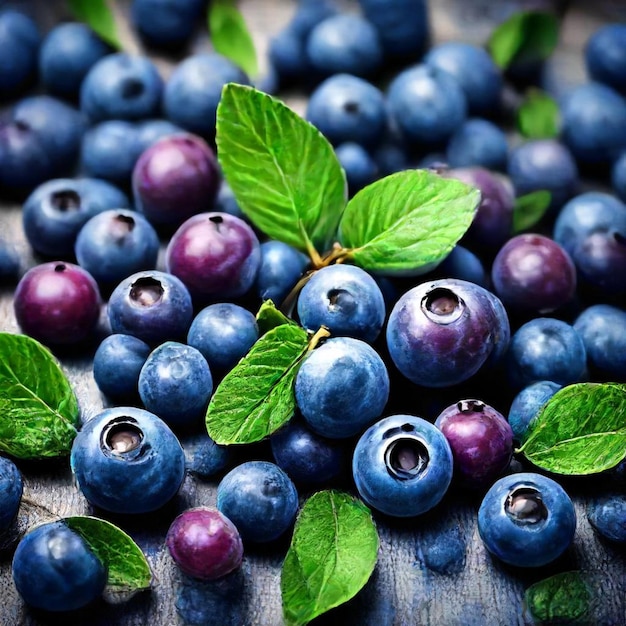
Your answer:
[[[148,561],[123,530],[91,516],[77,515],[63,521],[87,542],[106,566],[109,592],[126,594],[150,587],[152,572]]]

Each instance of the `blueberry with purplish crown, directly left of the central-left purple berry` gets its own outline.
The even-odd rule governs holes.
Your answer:
[[[156,267],[159,236],[137,211],[108,209],[91,217],[76,237],[76,260],[103,286]]]

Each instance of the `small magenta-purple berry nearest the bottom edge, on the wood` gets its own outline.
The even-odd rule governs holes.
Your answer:
[[[200,580],[215,580],[237,569],[243,543],[235,525],[219,510],[183,511],[169,527],[165,543],[176,565]]]

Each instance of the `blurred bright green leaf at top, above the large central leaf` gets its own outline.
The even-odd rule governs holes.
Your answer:
[[[229,58],[250,78],[256,77],[259,66],[254,40],[235,0],[211,0],[208,22],[215,51]]]

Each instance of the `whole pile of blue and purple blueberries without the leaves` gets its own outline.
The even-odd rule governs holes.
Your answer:
[[[173,4],[131,2],[148,48],[184,49],[206,11],[203,0]],[[481,201],[459,244],[423,275],[341,264],[307,277],[291,315],[331,336],[298,371],[297,414],[254,461],[212,441],[204,417],[259,338],[256,311],[285,302],[309,259],[259,232],[220,172],[222,87],[253,81],[215,52],[183,55],[165,79],[150,57],[115,51],[84,24],[44,34],[25,13],[0,10],[0,189],[22,204],[35,259],[25,269],[4,243],[0,274],[16,286],[23,333],[61,355],[93,351],[106,408],[83,424],[70,459],[90,505],[146,514],[172,500],[186,472],[218,481],[217,508],[182,512],[168,533],[193,577],[223,576],[247,542],[284,536],[302,497],[327,485],[354,489],[383,517],[421,515],[451,487],[468,489],[490,552],[521,567],[551,563],[574,538],[574,506],[514,447],[562,387],[626,382],[626,24],[586,43],[588,80],[559,94],[558,137],[525,139],[511,130],[507,94],[543,86],[543,62],[505,71],[483,47],[432,44],[426,2],[352,8],[295,4],[259,85],[308,91],[305,117],[334,146],[350,194],[430,168],[477,187]],[[537,190],[550,207],[515,232],[516,201]],[[0,512],[6,529],[22,487],[0,460],[2,498],[14,504]],[[623,467],[609,475],[620,484]],[[623,490],[588,516],[626,542]],[[62,524],[44,528],[17,547],[18,590],[44,609],[89,603],[105,584],[101,567]],[[52,535],[67,542],[54,555],[40,547]],[[39,588],[28,572],[42,553],[90,582]]]

